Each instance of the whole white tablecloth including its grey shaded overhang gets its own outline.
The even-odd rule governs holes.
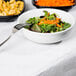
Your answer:
[[[31,0],[26,0],[26,4],[27,10],[35,9]],[[69,13],[76,20],[76,7]],[[0,23],[1,39],[6,37],[5,34],[2,36],[3,30],[10,34],[16,23],[17,21]],[[75,51],[75,27],[68,40],[50,45],[29,41],[20,30],[0,47],[0,76],[76,76]]]

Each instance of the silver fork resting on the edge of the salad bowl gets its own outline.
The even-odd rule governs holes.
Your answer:
[[[14,26],[11,35],[4,40],[2,43],[0,43],[0,46],[2,46],[3,44],[5,44],[11,37],[12,35],[14,35],[18,30],[22,29],[25,25],[30,25],[30,24],[17,24],[16,26]]]

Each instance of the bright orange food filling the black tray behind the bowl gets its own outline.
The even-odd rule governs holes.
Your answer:
[[[75,0],[37,0],[36,5],[39,6],[72,6]]]

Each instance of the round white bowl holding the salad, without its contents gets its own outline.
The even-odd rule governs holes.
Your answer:
[[[27,11],[23,13],[21,16],[18,18],[18,23],[25,23],[26,20],[28,20],[31,17],[39,17],[44,15],[43,11],[46,10],[52,13],[56,13],[60,16],[62,21],[66,21],[71,24],[71,27],[61,31],[61,32],[56,32],[56,33],[38,33],[38,32],[33,32],[27,29],[23,29],[24,36],[27,37],[28,39],[38,42],[38,43],[56,43],[59,41],[64,40],[65,38],[69,37],[72,27],[75,24],[74,18],[67,12],[57,10],[57,9],[34,9]]]

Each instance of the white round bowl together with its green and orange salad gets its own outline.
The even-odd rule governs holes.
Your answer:
[[[34,9],[23,13],[18,18],[18,23],[25,23],[22,30],[29,40],[48,44],[68,38],[75,20],[72,15],[62,10]]]

